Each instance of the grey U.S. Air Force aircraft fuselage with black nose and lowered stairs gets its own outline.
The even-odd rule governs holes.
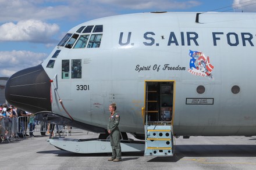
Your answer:
[[[256,135],[255,13],[150,12],[69,30],[5,96],[38,120],[101,133],[116,103],[123,139],[172,154],[173,137]],[[76,149],[74,151],[78,151]]]

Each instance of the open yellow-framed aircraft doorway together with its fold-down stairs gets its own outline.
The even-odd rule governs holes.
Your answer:
[[[173,155],[175,81],[145,81],[144,155]]]

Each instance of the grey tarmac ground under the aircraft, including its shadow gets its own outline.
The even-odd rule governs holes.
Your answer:
[[[48,136],[0,143],[0,169],[255,169],[256,136],[175,139],[173,157],[144,157],[143,152],[122,153],[122,162],[108,161],[109,154],[77,154],[59,150]],[[65,138],[97,138],[97,133],[76,129]],[[129,138],[133,138],[129,135]]]

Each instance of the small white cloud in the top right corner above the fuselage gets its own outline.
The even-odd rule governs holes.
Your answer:
[[[256,12],[256,1],[252,0],[234,0],[233,9],[237,12]]]

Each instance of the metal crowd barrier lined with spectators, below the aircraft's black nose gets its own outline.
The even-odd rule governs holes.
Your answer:
[[[5,117],[0,120],[0,140],[1,142],[26,138],[34,136],[34,132],[40,132],[42,136],[49,135],[51,132],[52,124],[46,122],[40,122],[34,120],[34,116],[20,116],[20,117]],[[70,126],[55,126],[55,133],[64,135],[66,132],[67,136],[71,135]],[[56,135],[53,133],[53,135]]]

